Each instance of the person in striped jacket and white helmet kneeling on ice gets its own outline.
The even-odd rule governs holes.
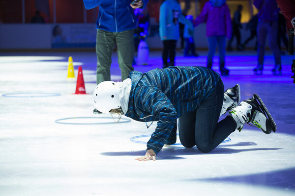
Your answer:
[[[176,143],[178,132],[184,147],[210,152],[244,123],[266,134],[276,124],[262,99],[254,94],[241,101],[237,84],[224,92],[220,75],[206,67],[168,67],[147,73],[130,72],[122,82],[104,81],[93,92],[94,106],[103,113],[122,114],[140,122],[158,121],[147,143],[147,153],[135,160],[155,160],[166,145]],[[218,122],[219,117],[229,115]],[[147,127],[148,124],[147,124]]]

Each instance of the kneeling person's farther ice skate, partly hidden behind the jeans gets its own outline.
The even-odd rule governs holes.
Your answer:
[[[240,87],[239,84],[236,84],[233,88],[229,88],[225,91],[220,116],[237,107],[239,102]]]

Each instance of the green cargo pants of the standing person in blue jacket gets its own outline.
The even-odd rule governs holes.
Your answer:
[[[97,29],[96,34],[96,83],[111,80],[112,53],[117,44],[118,64],[121,70],[122,81],[133,71],[132,60],[134,56],[133,43],[134,30],[122,32],[108,32]]]

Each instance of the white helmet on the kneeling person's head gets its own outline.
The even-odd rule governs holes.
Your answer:
[[[113,81],[99,83],[93,92],[94,107],[102,113],[121,107],[119,85]]]

